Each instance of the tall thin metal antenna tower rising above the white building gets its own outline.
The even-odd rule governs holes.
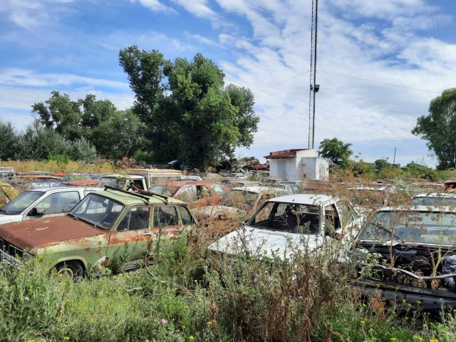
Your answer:
[[[311,27],[311,90],[309,96],[309,148],[314,148],[315,138],[315,93],[320,89],[315,84],[316,78],[316,24],[318,14],[318,0],[312,0],[312,27]]]

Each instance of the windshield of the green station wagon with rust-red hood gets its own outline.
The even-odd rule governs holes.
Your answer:
[[[98,194],[88,194],[70,214],[94,224],[95,227],[110,229],[123,209],[123,204]]]

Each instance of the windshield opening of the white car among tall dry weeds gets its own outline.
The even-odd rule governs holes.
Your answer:
[[[261,229],[318,234],[320,210],[311,204],[266,202],[247,224]]]

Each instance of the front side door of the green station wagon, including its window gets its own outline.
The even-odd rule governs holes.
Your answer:
[[[147,205],[129,207],[125,215],[113,224],[106,257],[108,264],[134,266],[150,251],[152,230],[150,208]]]

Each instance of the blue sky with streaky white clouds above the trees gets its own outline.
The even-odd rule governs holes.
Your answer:
[[[252,90],[259,127],[236,157],[309,148],[311,11],[312,0],[2,0],[0,119],[24,130],[53,90],[129,108],[118,54],[135,45],[170,61],[202,53],[226,85]],[[319,0],[314,147],[337,138],[352,159],[435,167],[411,130],[456,86],[455,20],[453,0]]]

